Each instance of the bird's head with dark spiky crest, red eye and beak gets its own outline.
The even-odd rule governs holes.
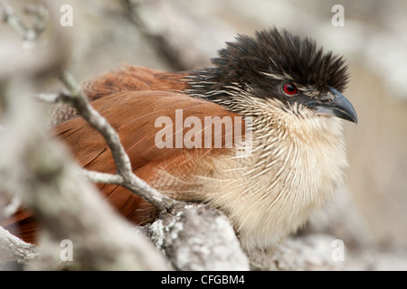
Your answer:
[[[345,61],[316,42],[286,30],[238,35],[213,59],[213,68],[195,71],[189,93],[250,114],[244,100],[272,100],[298,117],[339,117],[357,122],[345,98]],[[252,102],[251,102],[252,103]]]

